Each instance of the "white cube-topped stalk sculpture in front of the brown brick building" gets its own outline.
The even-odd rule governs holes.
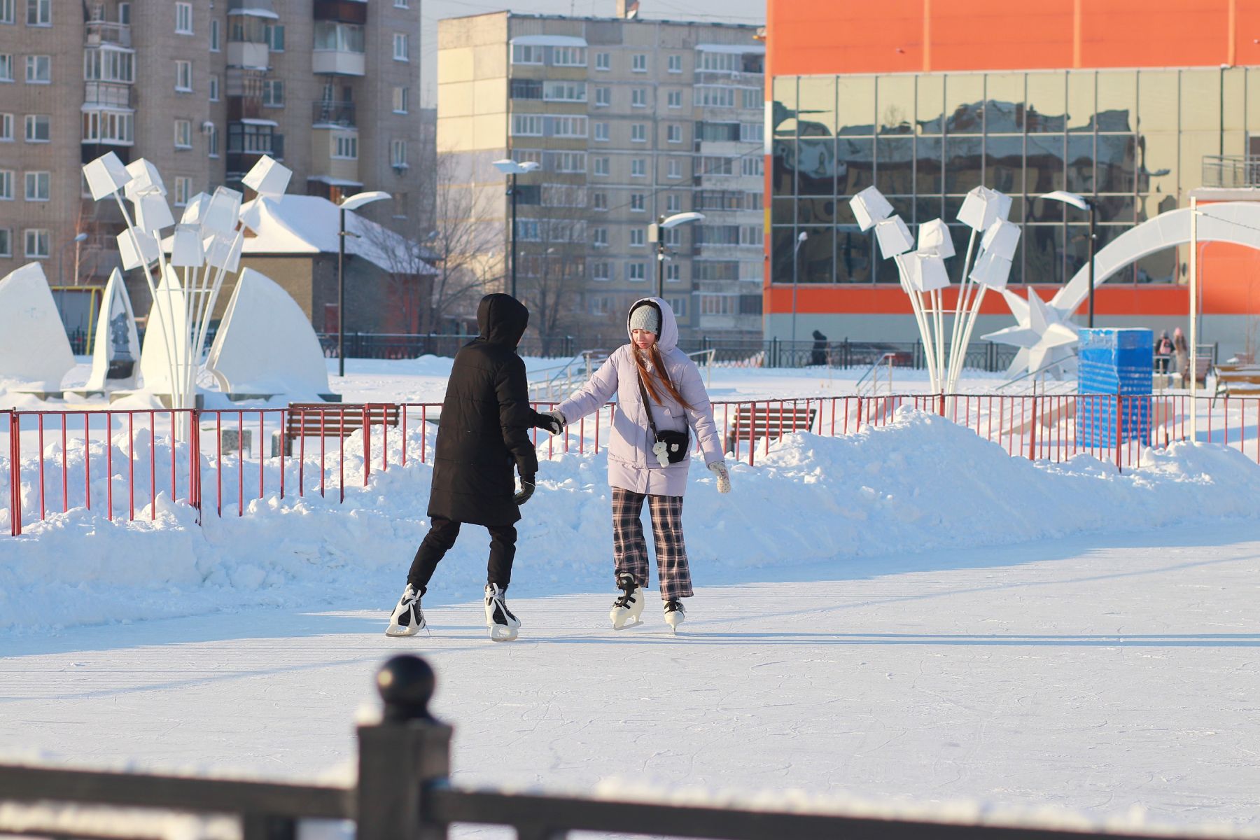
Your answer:
[[[290,170],[263,157],[244,176],[260,195],[277,196],[289,185]],[[220,186],[214,195],[189,199],[179,224],[166,204],[161,174],[145,159],[126,166],[113,152],[83,166],[94,200],[113,196],[127,230],[118,237],[122,266],[140,268],[152,306],[141,350],[141,375],[147,390],[170,394],[173,408],[192,408],[205,332],[223,277],[234,273],[248,220],[241,219],[241,194]],[[122,203],[131,201],[132,213]],[[243,224],[241,224],[243,222]],[[163,230],[174,227],[170,258],[161,247]],[[160,283],[154,282],[156,263]]]

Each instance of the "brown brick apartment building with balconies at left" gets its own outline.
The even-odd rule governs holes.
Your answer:
[[[0,276],[118,264],[121,213],[79,175],[107,151],[152,161],[176,218],[271,155],[290,193],[389,191],[364,214],[413,236],[418,106],[420,0],[0,0]]]

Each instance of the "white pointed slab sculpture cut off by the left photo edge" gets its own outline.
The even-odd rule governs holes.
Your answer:
[[[30,262],[0,280],[0,374],[26,390],[58,392],[74,366],[44,270]]]

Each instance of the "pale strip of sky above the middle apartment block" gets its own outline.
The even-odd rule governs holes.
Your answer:
[[[585,16],[612,16],[616,0],[422,0],[421,50],[423,54],[422,86],[425,106],[437,105],[436,52],[437,21],[442,18],[462,18],[504,9],[525,14],[561,14]],[[669,18],[673,20],[718,20],[738,24],[764,24],[765,0],[641,0],[643,18]]]

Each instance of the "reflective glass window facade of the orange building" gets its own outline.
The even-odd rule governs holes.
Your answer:
[[[1255,154],[1260,68],[779,77],[771,123],[775,282],[896,283],[848,205],[873,184],[911,232],[949,223],[955,282],[970,233],[956,222],[964,195],[979,185],[1011,195],[1023,229],[1011,282],[1063,283],[1087,258],[1089,219],[1041,195],[1092,200],[1097,248],[1184,205],[1206,159]],[[1178,270],[1169,251],[1109,285],[1173,282]]]

